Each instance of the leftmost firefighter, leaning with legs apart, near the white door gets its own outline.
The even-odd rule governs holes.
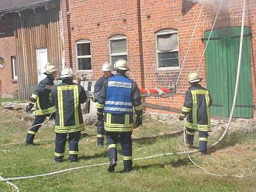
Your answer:
[[[47,89],[46,86],[53,85],[53,81],[57,76],[57,69],[54,65],[48,65],[45,67],[44,74],[47,77],[39,83],[35,92],[31,95],[28,106],[26,106],[28,113],[36,103],[36,117],[26,136],[26,145],[39,145],[39,143],[34,143],[36,132],[44,122],[46,116],[55,118],[56,109],[51,104],[51,90]]]

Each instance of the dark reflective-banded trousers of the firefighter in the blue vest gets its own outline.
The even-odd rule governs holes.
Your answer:
[[[108,141],[109,161],[111,159],[117,160],[116,144],[120,136],[120,143],[122,147],[122,154],[124,160],[124,171],[131,172],[132,170],[132,132],[106,132],[106,139]]]

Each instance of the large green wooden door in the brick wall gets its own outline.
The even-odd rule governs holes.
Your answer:
[[[205,31],[205,39],[210,31]],[[229,116],[236,86],[241,27],[215,29],[205,51],[206,79],[213,103],[211,114]],[[205,41],[206,45],[206,41]],[[234,117],[252,118],[250,28],[244,28],[243,55]]]

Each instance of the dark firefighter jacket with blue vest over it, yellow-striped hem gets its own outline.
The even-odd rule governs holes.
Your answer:
[[[114,83],[115,79],[119,81]],[[125,83],[131,83],[131,86],[124,87]],[[111,86],[110,86],[111,84]],[[111,88],[110,88],[111,87]],[[115,91],[116,88],[116,91]],[[131,89],[129,95],[124,95],[124,89]],[[109,91],[110,90],[110,91]],[[126,93],[126,92],[125,92]],[[107,95],[112,100],[108,100]],[[111,97],[115,95],[115,97]],[[98,113],[104,113],[104,129],[110,132],[127,132],[133,129],[133,113],[132,111],[111,111],[111,109],[104,109],[106,105],[113,104],[120,108],[125,108],[122,106],[127,103],[127,100],[131,100],[131,105],[133,106],[137,116],[142,117],[142,105],[141,96],[138,85],[136,82],[129,79],[127,76],[123,76],[117,73],[115,76],[110,77],[102,86],[102,89],[98,95],[97,111]],[[107,103],[106,103],[107,102]]]

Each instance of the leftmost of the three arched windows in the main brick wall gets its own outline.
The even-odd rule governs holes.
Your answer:
[[[77,70],[92,70],[91,42],[79,40],[76,42]]]

